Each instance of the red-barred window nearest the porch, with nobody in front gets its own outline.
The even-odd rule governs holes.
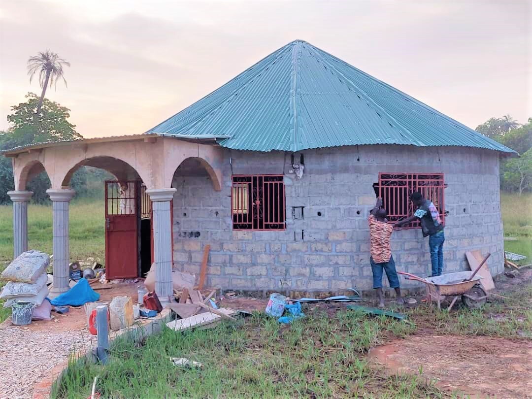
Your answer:
[[[231,211],[234,230],[284,230],[282,175],[233,176]]]

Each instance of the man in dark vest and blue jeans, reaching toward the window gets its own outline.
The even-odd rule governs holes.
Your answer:
[[[394,227],[399,227],[415,219],[419,219],[423,237],[429,236],[432,276],[441,276],[443,272],[443,242],[445,241],[445,236],[443,234],[443,223],[439,218],[439,212],[431,201],[423,198],[421,193],[412,193],[410,200],[416,207],[416,211],[410,217],[396,222]]]

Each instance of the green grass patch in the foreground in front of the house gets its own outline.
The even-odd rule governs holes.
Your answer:
[[[115,343],[106,367],[72,362],[52,397],[86,398],[95,376],[102,397],[117,399],[450,397],[423,376],[387,376],[360,355],[387,336],[414,329],[346,310],[311,311],[292,326],[255,313],[213,329],[165,328],[142,345]],[[195,360],[204,368],[175,367],[170,357]]]

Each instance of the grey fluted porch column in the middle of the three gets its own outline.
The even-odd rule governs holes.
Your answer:
[[[52,200],[53,220],[53,251],[54,251],[54,284],[48,295],[55,298],[69,290],[69,231],[68,231],[68,206],[76,194],[74,190],[46,190]]]

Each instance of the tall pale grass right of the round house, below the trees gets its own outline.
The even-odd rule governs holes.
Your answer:
[[[532,194],[501,193],[504,236],[532,239]]]

